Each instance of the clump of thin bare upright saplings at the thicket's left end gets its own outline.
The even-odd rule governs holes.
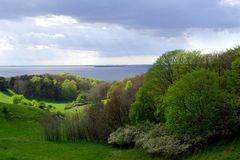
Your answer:
[[[41,125],[44,137],[48,141],[90,139],[87,118],[82,112],[68,113],[65,117],[48,113],[42,117]]]

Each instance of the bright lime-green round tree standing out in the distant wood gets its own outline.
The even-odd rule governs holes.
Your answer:
[[[66,79],[61,85],[62,96],[66,99],[71,99],[76,96],[77,85],[73,80]]]

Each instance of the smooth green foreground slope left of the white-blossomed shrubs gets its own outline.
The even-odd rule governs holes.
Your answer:
[[[12,118],[6,119],[2,109]],[[0,160],[148,160],[136,150],[120,150],[90,142],[48,142],[41,134],[39,117],[43,112],[33,107],[0,103]]]

